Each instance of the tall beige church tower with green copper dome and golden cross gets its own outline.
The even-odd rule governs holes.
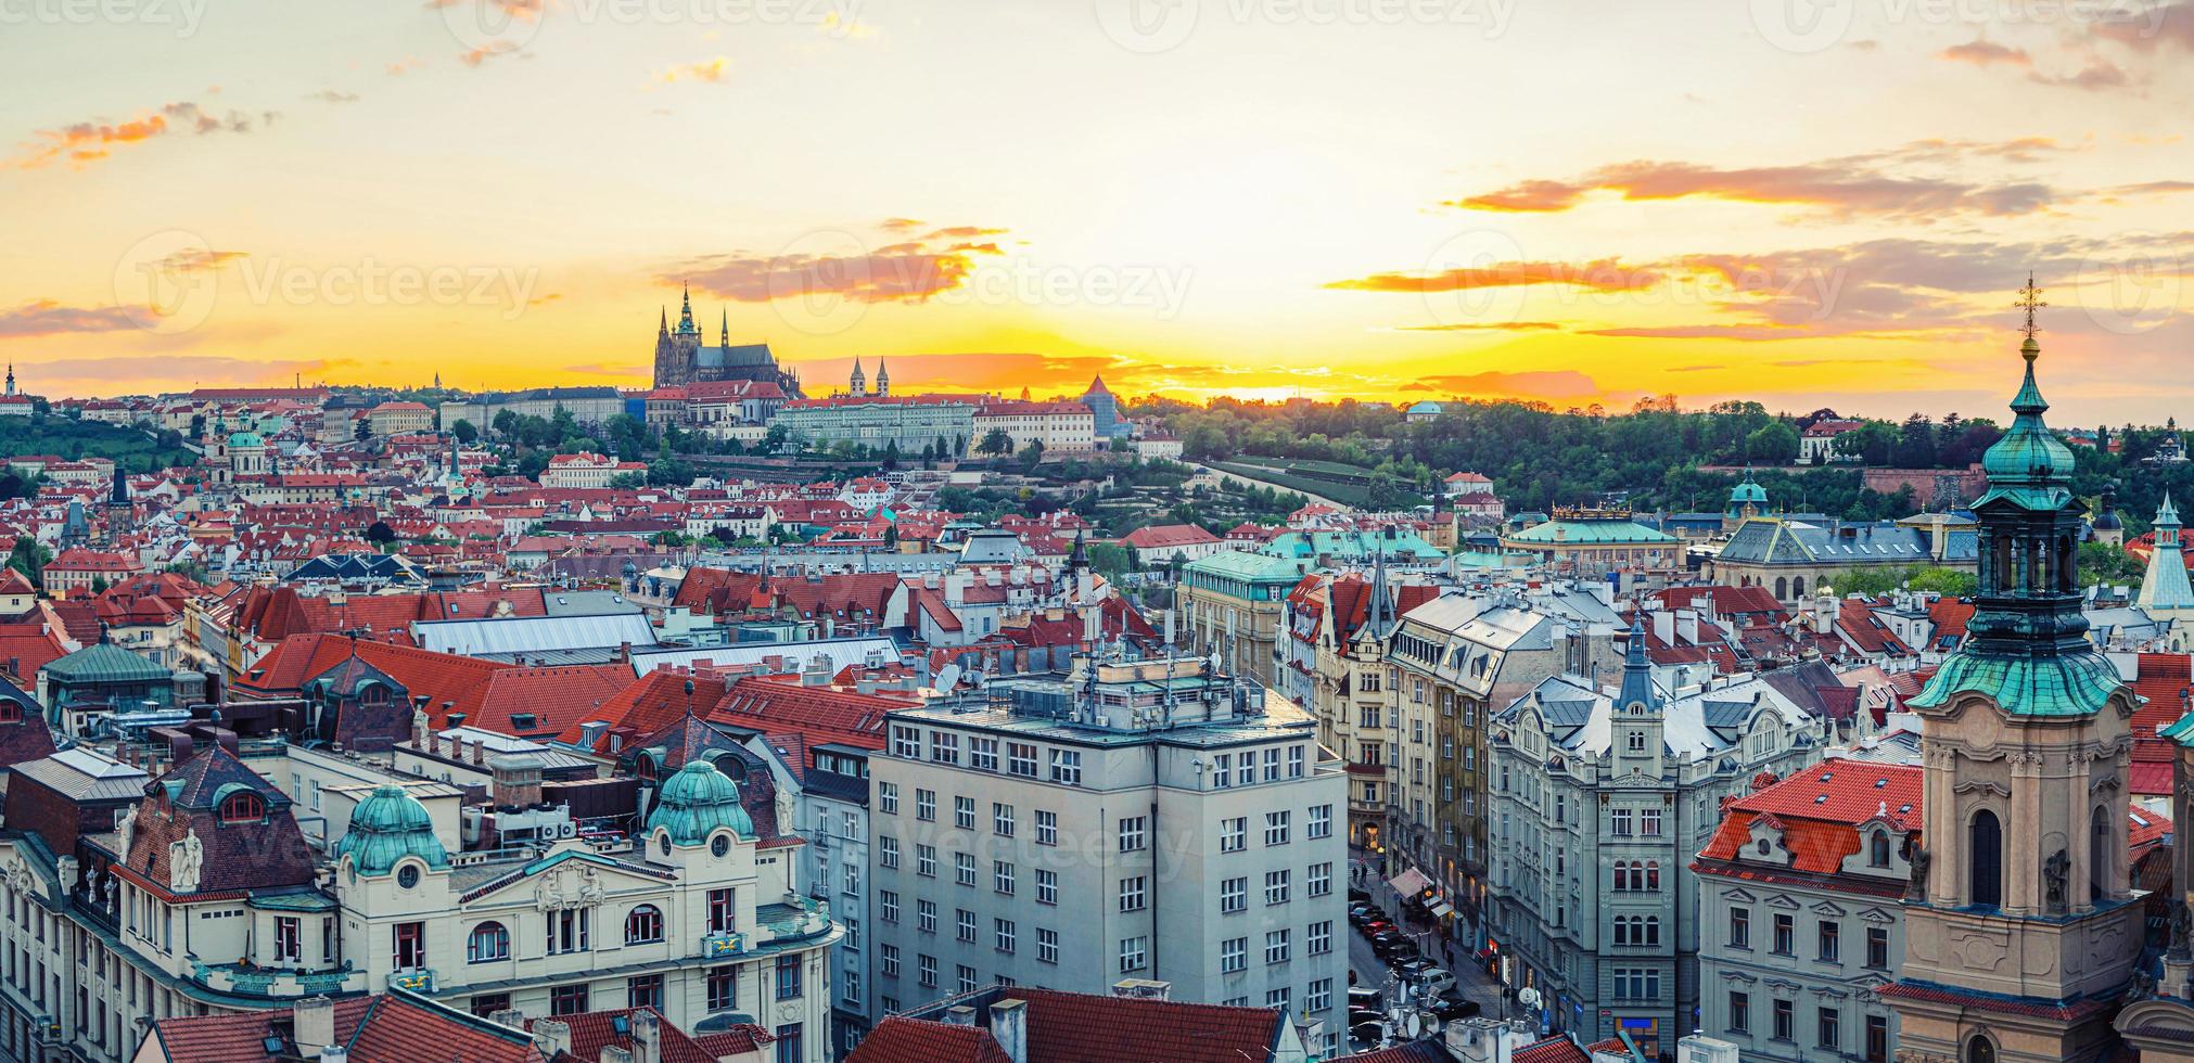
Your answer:
[[[1898,1059],[2091,1059],[2141,951],[2126,866],[2133,688],[2086,640],[2071,449],[2036,384],[2034,283],[2016,419],[1988,449],[1968,638],[1907,701],[1922,717],[1924,826],[1902,978],[1882,986]]]

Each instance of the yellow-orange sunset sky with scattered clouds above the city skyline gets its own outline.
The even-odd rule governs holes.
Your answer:
[[[810,392],[2194,412],[2194,0],[0,0],[50,397]]]

